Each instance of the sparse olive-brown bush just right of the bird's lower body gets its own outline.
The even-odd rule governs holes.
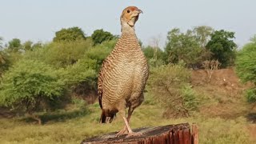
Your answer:
[[[197,110],[196,93],[189,85],[190,71],[181,65],[159,66],[151,70],[150,92],[165,107],[166,117],[189,116]]]

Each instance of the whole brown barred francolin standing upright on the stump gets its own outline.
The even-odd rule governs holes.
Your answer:
[[[138,135],[130,129],[129,122],[134,109],[144,100],[143,90],[149,75],[146,57],[134,30],[141,13],[142,10],[135,6],[122,11],[121,37],[103,62],[98,76],[98,102],[102,109],[100,122],[112,122],[118,112],[125,122],[125,127],[116,136]],[[126,107],[129,108],[127,118]]]

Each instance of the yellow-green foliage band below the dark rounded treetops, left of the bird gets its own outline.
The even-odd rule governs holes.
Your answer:
[[[91,47],[90,39],[76,42],[51,42],[25,54],[25,58],[40,60],[57,68],[78,62]]]

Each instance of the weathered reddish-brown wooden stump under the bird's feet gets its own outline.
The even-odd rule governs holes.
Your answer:
[[[146,127],[135,129],[134,132],[142,133],[141,136],[126,138],[115,137],[114,133],[103,134],[94,138],[84,139],[82,144],[99,144],[99,143],[130,143],[130,144],[198,144],[198,126],[192,125],[191,133],[190,125],[182,123],[178,125],[167,125],[158,127]]]

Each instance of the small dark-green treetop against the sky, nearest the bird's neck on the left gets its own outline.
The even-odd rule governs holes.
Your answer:
[[[110,41],[114,38],[114,35],[104,30],[94,30],[94,34],[91,35],[94,45],[101,44],[105,41]]]

